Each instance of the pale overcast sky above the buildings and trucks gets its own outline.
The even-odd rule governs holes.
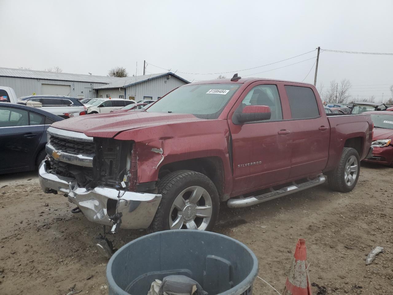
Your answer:
[[[237,70],[318,46],[393,53],[392,0],[0,0],[0,11],[0,66],[7,68],[59,66],[63,72],[106,76],[110,68],[124,66],[132,76],[137,62],[142,74],[145,59],[147,73],[165,72],[159,66],[189,81],[238,72],[313,83],[316,51]],[[272,70],[281,66],[286,67]],[[382,93],[389,98],[393,55],[321,52],[317,86],[344,78],[359,100],[371,95],[381,100]]]

